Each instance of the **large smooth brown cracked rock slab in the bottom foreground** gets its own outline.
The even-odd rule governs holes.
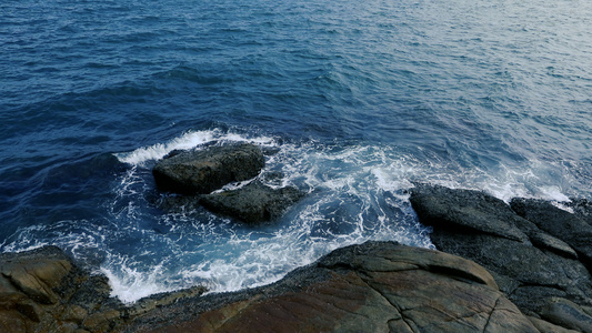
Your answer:
[[[254,290],[188,299],[123,332],[539,332],[473,262],[368,242]]]

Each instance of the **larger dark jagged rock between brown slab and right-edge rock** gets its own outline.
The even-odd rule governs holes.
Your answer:
[[[472,220],[471,228],[459,228],[460,223],[450,222],[460,214],[459,209],[448,206],[462,201],[471,201],[462,204],[461,214]],[[492,202],[495,209],[490,206]],[[495,278],[500,290],[524,313],[539,316],[545,306],[544,300],[551,296],[590,305],[592,276],[576,260],[575,246],[560,239],[559,233],[550,235],[534,221],[518,216],[505,203],[485,193],[421,185],[412,189],[411,203],[414,209],[419,208],[415,212],[420,222],[433,226],[430,238],[437,249],[483,265]],[[528,240],[491,232],[491,229],[500,229],[492,226],[500,220],[505,220],[502,230],[516,228]]]

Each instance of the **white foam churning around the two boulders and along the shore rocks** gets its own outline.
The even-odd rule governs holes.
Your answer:
[[[124,302],[195,284],[211,292],[268,284],[334,249],[368,240],[433,248],[430,229],[419,224],[409,204],[407,190],[413,186],[413,181],[483,190],[505,201],[514,196],[566,199],[561,186],[548,176],[549,169],[536,161],[520,168],[499,165],[481,170],[439,159],[421,160],[408,151],[398,151],[397,147],[325,147],[313,141],[278,144],[268,137],[211,130],[188,132],[163,144],[118,154],[121,161],[133,165],[117,185],[117,202],[112,206],[118,208],[113,210],[114,216],[122,220],[118,223],[129,222],[133,225],[130,232],[137,232],[142,230],[139,221],[154,219],[142,215],[142,205],[147,205],[142,202],[142,192],[147,191],[142,182],[146,184],[144,178],[150,176],[142,163],[173,149],[217,141],[250,141],[280,148],[267,158],[261,179],[265,181],[269,173],[269,184],[278,186],[273,174],[281,173],[282,186],[295,185],[308,195],[277,225],[257,231],[247,231],[208,213],[163,214],[159,223],[170,225],[170,234],[159,235],[158,242],[173,252],[162,254],[168,255],[167,261],[150,266],[154,258],[134,264],[112,260],[103,266],[113,294]],[[138,259],[141,254],[130,255],[143,260]],[[191,262],[192,256],[199,261]],[[188,262],[179,263],[178,259]],[[134,269],[139,266],[141,271]]]

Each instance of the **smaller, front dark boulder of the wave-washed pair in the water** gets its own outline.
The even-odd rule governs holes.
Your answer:
[[[199,202],[213,213],[258,224],[278,219],[302,195],[295,188],[272,189],[253,181],[238,190],[201,195]]]

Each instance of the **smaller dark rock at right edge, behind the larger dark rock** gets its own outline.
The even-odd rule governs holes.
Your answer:
[[[568,243],[581,261],[592,270],[592,226],[549,201],[514,198],[512,209],[546,233]]]

